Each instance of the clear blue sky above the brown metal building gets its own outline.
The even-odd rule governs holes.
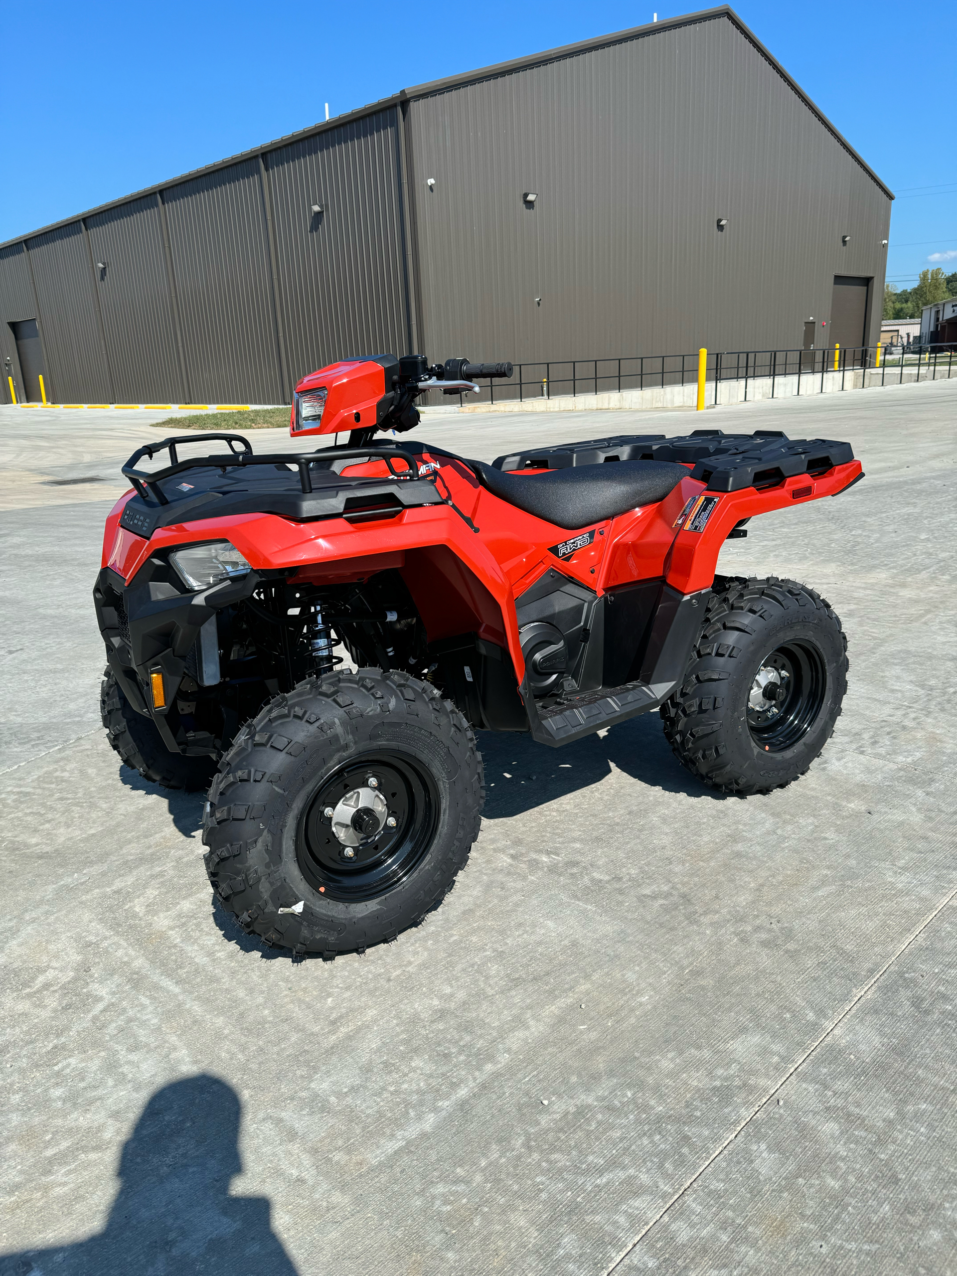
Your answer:
[[[320,120],[325,102],[338,115],[402,87],[639,26],[655,3],[665,0],[647,9],[606,0],[10,5],[0,241],[293,133]],[[907,287],[928,265],[957,271],[957,4],[735,8],[900,197],[888,279]]]

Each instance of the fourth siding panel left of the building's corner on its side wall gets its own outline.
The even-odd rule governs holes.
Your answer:
[[[79,222],[28,240],[40,301],[47,397],[57,403],[108,403],[89,255]]]

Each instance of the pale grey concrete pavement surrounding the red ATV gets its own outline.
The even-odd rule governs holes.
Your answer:
[[[704,417],[849,439],[868,475],[722,551],[808,581],[849,634],[808,776],[722,799],[651,716],[554,752],[485,735],[443,907],[299,966],[213,903],[200,799],[121,769],[98,726],[111,501],[47,480],[108,478],[145,413],[0,410],[0,476],[32,476],[0,513],[0,1272],[957,1271],[956,410],[937,383]],[[699,424],[416,434],[493,458]]]

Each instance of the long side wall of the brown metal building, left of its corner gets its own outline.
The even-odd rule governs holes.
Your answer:
[[[28,240],[51,402],[282,403],[324,362],[404,351],[399,165],[389,107]],[[18,387],[27,263],[0,249]]]

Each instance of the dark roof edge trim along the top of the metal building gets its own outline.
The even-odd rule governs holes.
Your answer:
[[[205,174],[216,172],[219,168],[228,168],[231,165],[241,163],[244,160],[251,160],[256,156],[267,154],[271,151],[277,151],[281,147],[287,147],[291,143],[300,142],[302,138],[309,138],[318,133],[325,133],[329,129],[342,128],[352,120],[360,120],[364,116],[374,115],[379,111],[387,110],[388,107],[398,106],[402,102],[415,101],[416,98],[424,97],[434,97],[438,93],[447,93],[466,84],[496,79],[501,75],[513,75],[517,71],[528,70],[533,66],[542,66],[546,63],[560,61],[567,57],[578,57],[582,54],[591,52],[596,48],[607,48],[611,45],[620,45],[632,40],[642,40],[648,36],[660,34],[664,31],[672,31],[676,27],[689,27],[695,23],[712,22],[716,18],[727,18],[740,31],[745,40],[748,40],[760,56],[771,64],[777,74],[785,80],[792,92],[798,94],[808,110],[817,116],[820,124],[824,125],[841,147],[843,147],[856,163],[860,165],[860,167],[873,179],[880,190],[884,191],[888,199],[893,199],[893,191],[884,185],[870,165],[868,165],[860,154],[857,154],[850,142],[847,142],[847,139],[835,128],[824,112],[820,111],[814,102],[812,102],[808,94],[787,74],[777,59],[760,43],[758,37],[748,29],[734,9],[731,9],[730,5],[718,5],[716,9],[703,9],[699,13],[684,14],[680,18],[666,18],[661,22],[646,23],[642,27],[630,27],[627,31],[618,31],[609,36],[596,36],[592,40],[582,40],[574,45],[563,45],[559,48],[549,48],[540,54],[530,54],[526,57],[516,57],[508,63],[496,63],[493,66],[482,66],[477,70],[463,71],[459,75],[449,75],[445,79],[430,80],[426,84],[416,84],[413,88],[399,89],[398,93],[393,93],[390,97],[383,97],[376,102],[370,102],[367,106],[357,107],[355,111],[347,111],[345,115],[337,115],[330,120],[323,120],[319,124],[309,125],[309,128],[299,129],[296,133],[288,133],[282,138],[276,138],[273,142],[265,142],[262,145],[251,147],[249,151],[240,151],[235,156],[228,156],[225,160],[217,160],[214,163],[204,165],[202,168],[191,168],[189,172],[180,174],[176,177],[170,177],[166,181],[158,181],[152,186],[144,186],[142,190],[134,190],[119,199],[111,199],[105,204],[97,204],[94,208],[88,208],[82,213],[73,213],[70,217],[63,217],[60,221],[50,222],[47,226],[41,226],[24,235],[14,235],[11,239],[4,240],[0,244],[0,249],[8,248],[11,244],[22,244],[24,240],[36,239],[38,235],[45,235],[61,226],[69,226],[84,217],[92,217],[111,208],[119,208],[120,205],[131,203],[135,199],[143,199],[145,195],[153,195],[160,190],[170,190],[172,186],[179,186],[185,181],[193,181]]]

